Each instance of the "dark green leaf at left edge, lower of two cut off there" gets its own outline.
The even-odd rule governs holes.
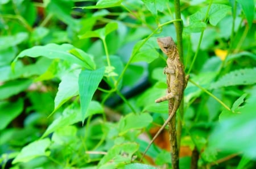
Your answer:
[[[0,102],[0,130],[17,117],[23,110],[23,100],[17,102]]]

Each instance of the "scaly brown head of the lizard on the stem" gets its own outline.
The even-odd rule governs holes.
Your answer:
[[[175,43],[174,40],[172,40],[172,37],[159,37],[157,41],[160,49],[163,51],[164,54],[166,54],[168,57],[174,56],[172,53],[175,49]]]

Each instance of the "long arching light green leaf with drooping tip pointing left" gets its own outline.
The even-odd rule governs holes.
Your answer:
[[[12,67],[14,67],[14,64],[18,60],[18,58],[22,58],[25,56],[29,56],[29,57],[44,56],[50,59],[58,58],[61,60],[71,62],[73,64],[78,64],[86,67],[87,65],[85,64],[85,62],[81,61],[79,58],[73,56],[73,54],[68,52],[69,50],[74,48],[75,47],[73,47],[70,44],[62,44],[62,45],[48,44],[45,46],[32,47],[30,49],[23,50],[13,61]]]

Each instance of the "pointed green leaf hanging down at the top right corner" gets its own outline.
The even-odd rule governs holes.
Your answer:
[[[253,0],[236,0],[241,4],[243,12],[245,13],[245,17],[247,19],[249,27],[253,24],[254,18],[254,1]]]

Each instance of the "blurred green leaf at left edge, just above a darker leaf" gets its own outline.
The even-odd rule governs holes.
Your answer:
[[[6,99],[10,96],[16,95],[19,92],[25,90],[32,83],[31,79],[19,79],[15,81],[9,81],[0,86],[0,99]]]

